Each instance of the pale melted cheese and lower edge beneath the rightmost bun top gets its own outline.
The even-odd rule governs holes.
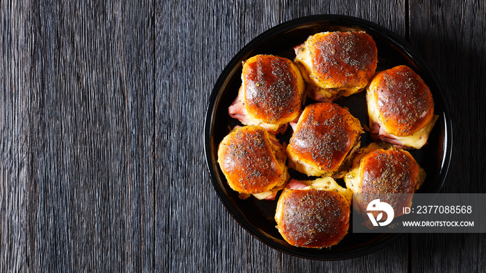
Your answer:
[[[368,103],[368,116],[369,116],[369,126],[373,126],[373,123],[378,123],[380,127],[383,127],[383,129],[386,130],[386,126],[383,125],[383,123],[380,121],[380,113],[378,112],[378,105],[376,105],[376,101],[374,98],[371,97],[371,93],[368,91],[367,92],[367,103]],[[426,127],[424,127],[422,130],[419,132],[416,132],[415,134],[412,134],[411,136],[395,136],[394,134],[389,134],[392,136],[394,139],[400,141],[403,146],[408,146],[416,149],[420,149],[422,146],[427,143],[428,135],[430,134],[430,131],[432,131],[432,128],[435,125],[435,122],[437,121],[437,118],[439,116],[434,115],[432,118],[432,121],[428,123]]]

